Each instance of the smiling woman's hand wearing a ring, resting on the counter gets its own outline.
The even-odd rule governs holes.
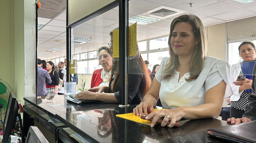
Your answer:
[[[168,109],[168,110],[162,109],[162,110],[153,111],[146,117],[146,119],[153,118],[150,126],[154,127],[157,120],[161,117],[164,117],[161,123],[161,126],[173,127],[175,126],[176,122],[180,121],[183,118],[182,113],[183,113],[182,108]],[[170,124],[167,125],[169,121],[170,121]]]

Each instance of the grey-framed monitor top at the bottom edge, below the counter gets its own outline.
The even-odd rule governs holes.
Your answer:
[[[43,133],[36,126],[30,126],[25,143],[49,143]]]

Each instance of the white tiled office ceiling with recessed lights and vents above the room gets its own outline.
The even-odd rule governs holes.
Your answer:
[[[38,58],[51,59],[66,55],[66,0],[41,0],[38,10]],[[190,5],[192,3],[192,7]],[[136,15],[167,9],[178,12],[146,25],[137,24],[137,41],[169,34],[172,19],[183,14],[193,14],[201,18],[204,26],[256,16],[256,2],[242,4],[233,0],[130,0],[129,18]],[[152,15],[151,15],[152,17]],[[102,21],[95,25],[95,21]],[[130,23],[131,24],[131,23]],[[118,8],[86,21],[73,29],[75,38],[92,38],[93,41],[77,45],[79,52],[97,50],[107,46],[109,32],[118,27]],[[57,50],[63,49],[63,50]]]

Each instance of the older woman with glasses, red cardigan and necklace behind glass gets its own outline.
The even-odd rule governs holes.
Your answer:
[[[99,65],[103,68],[93,72],[91,78],[91,88],[97,86],[108,86],[112,69],[112,52],[109,48],[103,46],[98,50]]]

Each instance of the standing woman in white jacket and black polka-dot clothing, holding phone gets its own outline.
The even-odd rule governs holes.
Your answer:
[[[252,42],[243,42],[238,47],[239,55],[243,61],[255,60],[255,45]],[[240,62],[231,66],[231,76],[233,84],[231,85],[233,95],[230,96],[231,108],[230,118],[242,118],[245,112],[245,105],[248,104],[247,96],[251,92],[246,92],[246,89],[252,88],[252,79],[236,81],[238,75],[242,75]]]

